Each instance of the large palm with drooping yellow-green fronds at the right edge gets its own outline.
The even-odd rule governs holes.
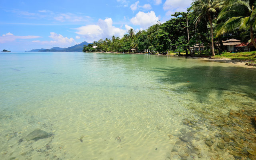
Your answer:
[[[236,28],[250,30],[250,40],[256,48],[253,30],[256,27],[255,0],[226,0],[226,6],[220,12],[218,20],[229,18],[222,26],[218,27],[217,36],[230,32]]]

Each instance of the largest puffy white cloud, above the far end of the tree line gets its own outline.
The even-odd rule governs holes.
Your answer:
[[[113,35],[122,37],[126,33],[126,30],[113,26],[111,18],[99,19],[97,25],[86,25],[76,29],[78,30],[76,34],[83,35],[86,42],[111,38]]]

